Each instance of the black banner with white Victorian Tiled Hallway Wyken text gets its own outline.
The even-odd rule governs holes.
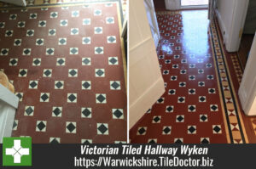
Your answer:
[[[0,146],[3,152],[3,145]],[[32,144],[32,166],[0,168],[255,168],[256,144]]]

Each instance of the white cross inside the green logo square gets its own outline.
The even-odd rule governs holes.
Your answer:
[[[29,149],[24,149],[20,146],[20,140],[14,140],[14,147],[5,149],[5,155],[13,155],[14,163],[20,163],[22,155],[29,155]]]

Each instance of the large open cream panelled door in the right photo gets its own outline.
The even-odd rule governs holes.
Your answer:
[[[152,2],[150,2],[152,3]],[[165,92],[151,26],[143,0],[129,3],[129,125],[130,128]]]

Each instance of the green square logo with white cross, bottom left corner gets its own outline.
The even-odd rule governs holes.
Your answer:
[[[32,138],[3,138],[3,166],[32,166]]]

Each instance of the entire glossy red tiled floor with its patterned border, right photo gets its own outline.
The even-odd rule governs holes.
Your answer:
[[[159,11],[166,93],[131,128],[131,143],[256,143],[255,118],[237,97],[242,70],[207,10]]]

